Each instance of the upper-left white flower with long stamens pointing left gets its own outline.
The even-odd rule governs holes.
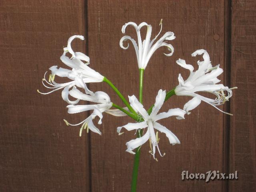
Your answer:
[[[65,47],[63,50],[63,54],[60,57],[60,60],[66,64],[68,67],[72,69],[65,69],[61,68],[58,66],[52,66],[49,69],[52,71],[52,74],[49,76],[49,82],[46,81],[46,73],[44,74],[44,78],[42,80],[43,85],[46,88],[53,89],[52,91],[48,93],[41,93],[41,94],[49,94],[52,93],[56,90],[60,90],[62,88],[62,98],[69,104],[76,104],[79,102],[79,99],[76,101],[70,101],[68,99],[68,93],[70,88],[72,88],[74,85],[83,88],[86,92],[86,94],[93,95],[93,92],[90,91],[85,83],[90,83],[90,82],[102,82],[104,79],[104,76],[102,76],[100,73],[96,72],[92,68],[88,66],[90,58],[86,56],[85,54],[81,52],[74,52],[71,48],[71,42],[75,38],[79,38],[81,40],[84,40],[84,37],[81,35],[74,35],[68,39],[68,46]],[[66,54],[70,53],[72,56],[71,58],[67,57]],[[84,63],[84,62],[85,63]],[[54,81],[55,76],[59,77],[67,77],[69,78],[70,82],[66,83],[57,83]]]

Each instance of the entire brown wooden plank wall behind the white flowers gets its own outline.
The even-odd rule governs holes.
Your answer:
[[[153,36],[163,19],[163,33],[173,31],[172,57],[158,50],[145,71],[144,103],[148,108],[162,88],[177,83],[176,59],[196,64],[190,54],[204,48],[213,65],[221,64],[221,79],[238,86],[225,104],[230,117],[202,103],[183,121],[168,118],[181,144],[171,146],[161,135],[166,152],[156,162],[142,147],[139,192],[254,192],[256,191],[255,60],[256,2],[254,0],[1,0],[0,1],[0,191],[1,192],[127,192],[133,157],[125,152],[132,132],[116,127],[130,121],[105,115],[102,136],[82,134],[66,126],[88,114],[68,115],[60,92],[42,96],[41,79],[60,65],[62,47],[74,34],[75,50],[90,56],[90,65],[127,96],[138,96],[138,67],[133,48],[122,50],[119,40],[126,22],[152,24]],[[134,35],[128,28],[127,34]],[[113,74],[113,72],[120,72]],[[90,85],[120,100],[104,83]],[[163,110],[182,108],[189,98],[174,96]],[[182,170],[204,173],[238,171],[238,180],[181,180]]]

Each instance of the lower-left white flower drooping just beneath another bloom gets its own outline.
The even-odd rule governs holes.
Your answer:
[[[70,114],[80,113],[80,112],[84,112],[84,111],[88,111],[88,110],[93,110],[93,112],[88,118],[86,118],[85,120],[83,120],[82,122],[80,122],[78,124],[70,124],[66,120],[64,120],[64,122],[67,125],[72,125],[72,126],[82,124],[82,126],[80,128],[80,136],[82,134],[83,129],[87,129],[87,132],[90,129],[92,132],[95,132],[95,133],[98,133],[101,135],[100,130],[98,128],[96,128],[96,126],[94,126],[92,120],[96,116],[98,116],[100,118],[98,121],[98,124],[102,124],[102,118],[103,118],[102,113],[106,112],[107,110],[109,110],[112,107],[112,102],[110,102],[110,98],[109,98],[108,94],[106,94],[105,92],[102,92],[102,91],[97,91],[93,95],[88,95],[88,94],[82,93],[75,86],[72,88],[72,90],[69,91],[69,94],[70,94],[70,96],[76,98],[77,100],[90,101],[90,102],[94,102],[96,104],[68,105],[67,106],[68,113],[70,113]]]

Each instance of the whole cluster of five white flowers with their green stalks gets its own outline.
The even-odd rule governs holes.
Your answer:
[[[146,68],[152,54],[161,46],[166,46],[170,51],[169,54],[165,54],[166,56],[172,56],[174,48],[171,44],[168,44],[167,41],[174,40],[174,33],[166,32],[161,38],[156,40],[162,31],[162,20],[160,22],[160,32],[152,40],[150,40],[152,32],[151,25],[145,22],[142,22],[139,25],[135,24],[134,22],[128,22],[122,27],[122,33],[125,33],[125,29],[129,25],[135,28],[138,41],[136,42],[130,36],[123,36],[120,39],[120,46],[123,49],[127,49],[129,44],[127,46],[124,46],[124,41],[130,40],[132,42],[136,52],[138,68],[140,72]],[[140,34],[140,29],[142,27],[147,28],[146,38],[143,41]],[[168,138],[170,144],[180,144],[177,136],[175,136],[168,128],[159,124],[157,122],[158,120],[168,118],[170,116],[176,116],[177,119],[182,120],[184,119],[184,116],[186,114],[190,114],[190,111],[196,108],[201,103],[201,101],[204,101],[217,108],[217,106],[224,104],[224,102],[228,101],[229,98],[232,96],[233,88],[228,88],[223,84],[217,84],[220,82],[217,77],[223,72],[222,68],[220,68],[220,65],[213,67],[210,62],[209,54],[206,52],[206,50],[200,49],[192,53],[192,56],[203,54],[204,60],[197,62],[198,70],[194,71],[194,67],[192,65],[186,64],[185,60],[178,59],[176,62],[179,66],[190,70],[189,77],[184,80],[181,74],[179,74],[179,84],[178,86],[176,86],[176,88],[170,90],[169,92],[160,89],[156,96],[156,102],[147,111],[142,105],[141,96],[139,99],[140,102],[134,95],[128,96],[130,103],[127,102],[124,96],[122,96],[118,89],[106,77],[102,76],[100,73],[96,72],[88,66],[90,62],[90,58],[88,56],[81,52],[74,52],[72,50],[71,42],[76,38],[84,40],[84,37],[80,35],[70,37],[68,39],[68,45],[64,48],[64,52],[60,57],[60,60],[71,69],[61,67],[58,68],[58,66],[50,67],[49,70],[51,70],[51,74],[49,75],[49,79],[48,81],[46,80],[46,72],[44,74],[42,83],[46,88],[52,89],[52,91],[47,93],[42,93],[39,91],[38,92],[41,94],[50,94],[54,91],[63,89],[62,98],[68,103],[68,113],[75,114],[89,110],[92,111],[90,116],[77,124],[70,124],[67,120],[64,120],[66,125],[81,125],[80,136],[82,134],[82,130],[84,129],[87,132],[91,130],[92,132],[101,134],[100,130],[94,125],[93,120],[98,116],[98,124],[101,124],[104,112],[114,116],[128,115],[137,122],[132,122],[124,126],[120,126],[117,128],[117,132],[119,135],[121,135],[123,133],[121,132],[122,128],[125,128],[127,131],[134,130],[138,132],[138,137],[126,143],[126,151],[135,154],[134,150],[136,148],[140,148],[140,146],[142,146],[145,142],[149,140],[150,154],[152,154],[154,159],[156,159],[156,149],[158,150],[160,156],[164,156],[165,154],[162,154],[160,152],[158,146],[158,131],[166,134],[166,137]],[[66,56],[67,53],[71,55],[71,58]],[[56,76],[61,78],[67,78],[68,82],[57,83],[55,81]],[[142,90],[142,79],[143,78],[140,78],[140,90]],[[123,108],[111,102],[110,97],[105,92],[90,91],[86,83],[94,82],[106,82],[118,94],[126,107]],[[200,95],[200,92],[210,92],[215,96],[215,98],[207,98]],[[142,94],[142,91],[140,94]],[[184,105],[183,109],[174,108],[168,110],[167,112],[158,113],[164,102],[174,94],[177,96],[191,96],[193,98]],[[74,99],[70,100],[69,96]],[[78,103],[80,102],[80,100],[92,102],[93,104],[79,105]],[[116,109],[110,109],[112,107]],[[220,110],[219,108],[217,109]]]

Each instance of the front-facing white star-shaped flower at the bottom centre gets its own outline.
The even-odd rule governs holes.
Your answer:
[[[154,104],[153,110],[150,115],[148,115],[147,111],[143,108],[142,104],[138,101],[138,99],[134,95],[129,96],[129,100],[132,108],[142,116],[144,121],[139,123],[128,123],[124,126],[118,127],[117,132],[119,134],[122,134],[121,133],[122,127],[126,128],[126,130],[128,131],[144,129],[144,128],[148,128],[148,129],[142,137],[136,138],[126,143],[127,152],[135,154],[132,150],[141,146],[147,140],[150,140],[150,144],[152,144],[152,151],[150,151],[150,153],[154,156],[154,159],[155,159],[156,147],[158,149],[160,156],[163,156],[160,153],[160,150],[158,148],[158,141],[159,141],[157,138],[158,132],[156,132],[155,134],[154,129],[162,133],[165,133],[172,145],[180,144],[180,141],[178,140],[178,138],[170,130],[168,130],[166,127],[156,122],[160,119],[168,118],[170,116],[179,116],[180,118],[184,118],[184,114],[186,114],[184,110],[181,110],[179,108],[170,109],[168,110],[168,112],[162,112],[160,114],[157,114],[164,103],[165,96],[166,96],[166,91],[162,91],[162,90],[158,91],[158,94],[156,96],[156,102]]]

